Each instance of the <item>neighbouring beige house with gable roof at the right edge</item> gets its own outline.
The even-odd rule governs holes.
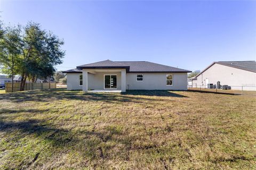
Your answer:
[[[231,89],[256,89],[255,61],[222,61],[213,62],[194,78],[193,87],[214,87],[214,84],[228,85]],[[210,86],[213,85],[213,86]],[[215,86],[216,87],[216,86]]]

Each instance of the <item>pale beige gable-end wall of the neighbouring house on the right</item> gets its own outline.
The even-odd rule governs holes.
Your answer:
[[[204,71],[193,80],[193,86],[206,85],[205,79],[209,79],[209,83],[217,84],[220,81],[221,85],[229,86],[256,86],[256,73],[236,69],[221,64],[213,64],[209,69]],[[231,87],[232,89],[241,89],[241,87]],[[244,88],[245,90],[246,88]],[[247,88],[253,90],[255,88]]]

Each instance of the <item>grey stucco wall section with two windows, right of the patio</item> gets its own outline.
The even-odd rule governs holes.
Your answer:
[[[137,81],[137,74],[143,74],[143,81]],[[173,86],[166,86],[166,74],[173,74]],[[126,89],[187,90],[187,73],[127,73]]]

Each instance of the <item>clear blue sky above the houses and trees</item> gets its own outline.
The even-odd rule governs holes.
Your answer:
[[[41,23],[63,38],[58,70],[102,60],[203,70],[256,59],[253,1],[0,1],[5,24]]]

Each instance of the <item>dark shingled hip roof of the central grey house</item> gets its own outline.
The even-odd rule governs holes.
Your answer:
[[[82,69],[116,69],[123,68],[127,72],[191,72],[189,70],[178,69],[162,64],[156,64],[146,61],[110,61],[105,60],[101,62],[85,64],[77,66],[77,69],[63,71],[63,73],[82,72]]]

